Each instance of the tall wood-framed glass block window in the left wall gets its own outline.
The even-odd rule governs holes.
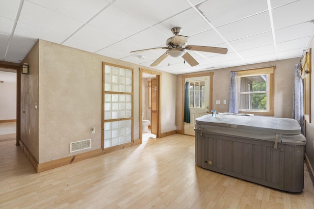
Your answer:
[[[133,70],[104,63],[103,147],[132,142]]]

